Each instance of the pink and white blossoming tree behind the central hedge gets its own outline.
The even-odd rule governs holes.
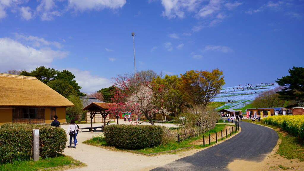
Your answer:
[[[156,113],[167,112],[161,109],[161,96],[166,92],[166,87],[158,79],[151,75],[142,76],[142,73],[136,75],[124,74],[112,78],[114,85],[118,87],[112,99],[119,107],[110,109],[112,113],[132,112],[137,117],[145,116],[150,124],[154,125],[152,118]]]

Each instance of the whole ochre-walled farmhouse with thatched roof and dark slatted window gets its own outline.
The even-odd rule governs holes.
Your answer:
[[[50,123],[56,114],[66,122],[64,96],[35,77],[0,73],[0,121],[3,123]]]

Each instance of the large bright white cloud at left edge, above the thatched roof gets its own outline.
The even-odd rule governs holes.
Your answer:
[[[67,51],[54,51],[46,47],[35,49],[10,38],[0,38],[1,72],[49,66],[54,59],[65,58],[68,54]]]

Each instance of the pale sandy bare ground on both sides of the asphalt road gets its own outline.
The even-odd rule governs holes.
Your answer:
[[[80,127],[85,125],[79,125]],[[94,124],[93,126],[98,126],[98,124]],[[167,125],[165,125],[167,126]],[[63,125],[62,128],[67,130],[67,126]],[[231,127],[231,126],[230,126]],[[229,127],[227,128],[229,134]],[[240,129],[241,131],[241,129]],[[65,155],[72,156],[74,159],[84,162],[87,166],[83,168],[71,168],[69,171],[78,171],[78,170],[86,170],[86,171],[97,171],[97,170],[123,170],[123,171],[148,171],[150,169],[154,169],[159,166],[163,166],[170,162],[173,162],[177,159],[181,159],[188,155],[192,155],[196,152],[204,150],[202,149],[191,149],[191,150],[182,150],[176,153],[164,153],[162,155],[139,155],[130,152],[121,152],[121,151],[112,151],[105,148],[99,148],[91,145],[83,144],[82,142],[91,139],[93,135],[98,134],[98,132],[82,132],[79,133],[77,139],[79,141],[79,145],[77,148],[66,148],[64,150]],[[225,131],[226,135],[226,131]],[[236,134],[234,134],[236,135]],[[230,138],[233,138],[232,135]],[[215,137],[215,135],[213,135]],[[220,138],[220,134],[218,134],[218,138]],[[224,136],[224,132],[223,132]],[[214,139],[215,138],[211,138]],[[229,139],[229,138],[228,138]],[[227,139],[226,139],[227,140]],[[225,140],[224,140],[225,141]],[[219,141],[215,145],[224,142]],[[202,143],[202,142],[194,142],[194,143]],[[206,142],[205,142],[206,143]],[[209,138],[208,138],[209,143]],[[299,162],[296,159],[287,160],[277,155],[276,152],[278,150],[278,144],[273,149],[273,151],[264,159],[264,161],[257,162],[249,162],[244,161],[242,159],[236,159],[234,162],[231,162],[227,168],[231,171],[259,171],[259,170],[304,170],[304,162]],[[68,143],[67,143],[68,145]],[[213,145],[212,145],[213,146]],[[209,147],[207,147],[209,148]],[[289,167],[289,169],[282,169],[278,166],[282,165],[283,167]]]

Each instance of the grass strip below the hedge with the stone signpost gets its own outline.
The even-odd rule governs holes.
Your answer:
[[[64,166],[67,165],[67,166]],[[14,161],[0,165],[1,171],[31,171],[31,170],[67,170],[84,167],[84,163],[78,162],[69,156],[58,155],[54,158],[40,159],[39,161]],[[45,169],[47,168],[47,169]]]

